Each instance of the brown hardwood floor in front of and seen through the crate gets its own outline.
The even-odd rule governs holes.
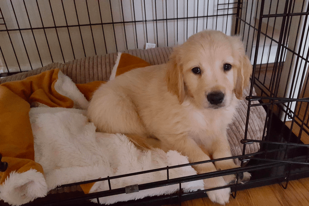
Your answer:
[[[271,68],[272,65],[269,66]],[[270,77],[272,70],[266,69],[260,71],[260,80],[265,85],[270,85]],[[256,89],[258,95],[260,91]],[[309,89],[303,91],[304,97],[309,96]],[[307,96],[306,96],[307,95]],[[299,111],[298,121],[309,118],[309,112],[306,112],[307,103],[298,104]],[[309,110],[309,109],[308,109]],[[286,125],[291,128],[291,121],[287,121]],[[297,124],[294,124],[292,131],[296,136],[301,136],[301,140],[305,144],[309,144],[309,135],[301,131]],[[178,204],[175,204],[175,206]],[[209,198],[200,198],[196,200],[184,201],[182,206],[219,206],[220,204],[212,203]],[[248,190],[237,191],[236,198],[230,197],[230,202],[226,206],[306,206],[309,205],[309,178],[290,181],[288,187],[284,189],[280,184],[274,184],[263,187],[256,187]],[[174,206],[174,205],[172,205]]]

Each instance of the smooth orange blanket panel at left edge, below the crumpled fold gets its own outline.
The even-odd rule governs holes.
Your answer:
[[[0,172],[0,183],[13,171],[22,173],[33,169],[43,173],[42,166],[34,162],[30,104],[5,86],[0,86],[0,94],[0,151],[2,161],[8,163],[7,170]]]

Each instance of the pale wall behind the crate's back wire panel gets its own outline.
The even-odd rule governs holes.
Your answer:
[[[30,28],[30,23],[32,28],[45,27],[45,29],[33,29],[33,30],[23,30],[19,31],[5,31],[5,26],[0,25],[0,47],[2,48],[3,56],[5,58],[6,64],[11,72],[19,71],[19,66],[15,58],[15,54],[12,48],[15,49],[15,53],[20,65],[21,70],[29,70],[41,67],[42,65],[47,65],[51,62],[67,62],[75,58],[81,58],[84,56],[93,55],[104,55],[107,53],[112,53],[126,49],[140,48],[143,49],[146,44],[146,27],[148,34],[148,42],[155,43],[159,47],[174,46],[176,44],[182,44],[187,39],[188,36],[201,31],[204,29],[217,29],[223,31],[227,34],[234,32],[232,28],[232,20],[235,20],[234,16],[229,15],[219,16],[219,17],[209,17],[209,18],[199,18],[199,19],[180,19],[178,24],[176,20],[147,22],[147,23],[125,23],[125,29],[123,23],[112,25],[104,25],[104,35],[101,25],[93,26],[83,26],[86,24],[100,24],[112,22],[112,16],[114,22],[128,22],[134,21],[133,15],[133,1],[132,0],[122,0],[124,17],[122,17],[121,11],[121,1],[112,0],[111,5],[108,0],[100,0],[99,5],[97,0],[87,0],[90,21],[87,13],[87,5],[85,0],[75,0],[77,15],[74,7],[74,1],[71,0],[51,0],[50,4],[48,0],[38,0],[38,6],[35,0],[25,1],[26,8],[28,11],[30,23],[27,17],[25,5],[23,1],[12,1],[1,0],[0,8],[3,13],[3,18],[5,19],[7,28],[18,29],[19,28]],[[62,8],[62,2],[63,7]],[[222,3],[232,3],[237,2],[235,0],[219,0],[219,4]],[[156,19],[155,17],[155,3],[157,8],[157,19],[171,19],[177,17],[176,10],[176,0],[146,0],[146,20]],[[167,3],[167,8],[166,8]],[[199,4],[197,7],[197,3]],[[112,7],[112,15],[110,11],[110,6]],[[135,0],[135,20],[145,20],[145,9],[143,0]],[[188,16],[203,16],[203,15],[221,15],[227,14],[227,10],[218,10],[227,8],[227,5],[217,5],[217,2],[209,1],[197,1],[188,0]],[[230,7],[235,7],[232,4]],[[15,10],[16,18],[13,12],[13,7]],[[42,16],[42,22],[40,14]],[[100,18],[101,10],[102,18]],[[166,12],[167,11],[167,12]],[[52,15],[53,12],[53,15]],[[235,9],[229,9],[229,13],[236,13]],[[167,16],[166,16],[167,14]],[[63,27],[63,28],[46,28],[46,27],[59,27],[67,25],[82,25],[80,27]],[[54,16],[54,19],[53,19]],[[178,1],[178,18],[187,17],[187,1]],[[197,24],[198,23],[198,24]],[[178,25],[178,42],[177,42],[177,25]],[[167,26],[167,27],[166,27]],[[217,27],[216,27],[217,26]],[[92,33],[91,33],[92,29]],[[117,43],[117,49],[115,44],[115,37]],[[158,29],[158,36],[156,30]],[[79,31],[80,30],[80,31]],[[135,32],[136,30],[136,32]],[[167,30],[167,31],[166,31]],[[33,34],[32,34],[33,31]],[[69,31],[69,32],[68,32]],[[44,33],[45,32],[45,33]],[[125,39],[126,32],[126,39]],[[45,37],[46,34],[46,37]],[[58,36],[57,36],[58,34]],[[70,36],[69,36],[70,35]],[[137,35],[137,37],[136,37]],[[11,37],[11,41],[9,39]],[[92,38],[93,36],[93,38]],[[23,40],[22,38],[23,37]],[[58,41],[59,38],[59,41]],[[70,38],[72,41],[72,46],[70,43]],[[158,39],[158,42],[157,42]],[[24,42],[24,43],[23,43]],[[59,43],[60,42],[60,43]],[[83,45],[84,44],[84,49]],[[105,48],[106,43],[106,48]],[[25,44],[25,46],[24,46]],[[37,44],[37,48],[36,48]],[[127,44],[127,46],[126,46]],[[94,47],[95,45],[95,47]],[[49,47],[48,47],[49,46]],[[72,49],[73,47],[73,49]],[[26,48],[26,49],[25,49]],[[28,57],[27,57],[27,53]],[[50,50],[50,52],[49,52]],[[63,55],[61,54],[61,50]],[[73,55],[74,51],[74,55]],[[50,54],[51,53],[51,54]],[[40,61],[41,58],[41,61]],[[30,63],[29,63],[30,61]],[[31,66],[30,66],[31,65]],[[0,73],[6,72],[6,66],[2,54],[0,53]]]

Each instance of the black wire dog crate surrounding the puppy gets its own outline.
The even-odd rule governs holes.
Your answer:
[[[242,37],[253,74],[250,94],[246,98],[248,111],[242,140],[243,155],[232,158],[248,164],[231,170],[138,185],[139,190],[144,190],[179,184],[180,190],[173,195],[118,204],[158,205],[204,197],[207,190],[183,193],[181,183],[227,174],[238,176],[244,171],[252,173],[248,183],[225,186],[231,187],[234,198],[238,190],[282,182],[285,183],[283,187],[287,187],[292,179],[309,177],[308,0],[6,0],[0,2],[0,15],[0,77],[51,62],[65,63],[80,57],[143,49],[146,43],[158,47],[182,44],[192,34],[205,29]],[[253,88],[257,96],[252,95]],[[253,100],[260,103],[253,104]],[[252,107],[258,106],[263,106],[267,112],[261,141],[247,138],[248,116]],[[252,142],[258,142],[261,149],[246,154],[245,148]],[[218,160],[203,163],[214,161]],[[182,166],[193,164],[196,163]],[[168,176],[168,170],[175,167],[179,166],[60,187],[158,170],[166,170]],[[51,194],[30,204],[99,201],[99,197],[122,193],[125,193],[125,188],[91,194]]]

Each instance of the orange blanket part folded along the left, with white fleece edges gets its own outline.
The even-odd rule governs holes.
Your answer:
[[[96,87],[80,88],[90,96]],[[0,85],[0,152],[2,161],[8,163],[6,171],[0,172],[0,198],[10,204],[25,204],[48,192],[43,167],[35,161],[29,119],[30,106],[37,104],[85,109],[88,101],[59,69]]]

